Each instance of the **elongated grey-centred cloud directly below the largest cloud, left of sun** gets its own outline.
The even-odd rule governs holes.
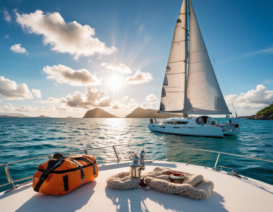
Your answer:
[[[44,66],[43,71],[49,76],[47,79],[54,80],[58,83],[67,83],[73,86],[96,86],[100,85],[102,78],[96,74],[91,74],[88,70],[82,68],[74,70],[65,65]]]

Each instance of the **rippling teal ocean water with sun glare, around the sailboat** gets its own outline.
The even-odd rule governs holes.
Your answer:
[[[214,119],[218,120],[218,119]],[[227,121],[226,119],[219,119]],[[217,122],[217,121],[216,121]],[[222,139],[184,137],[151,132],[149,119],[74,119],[74,118],[0,118],[0,163],[73,150],[117,146],[118,155],[140,154],[158,159],[213,167],[217,153],[181,149],[181,147],[216,150],[273,160],[273,121],[241,119],[241,134]],[[89,150],[97,163],[115,162],[111,147]],[[13,180],[34,174],[41,158],[10,164]],[[273,184],[273,163],[236,156],[221,155],[218,165],[238,170],[242,175]],[[0,184],[7,183],[4,166],[0,166]],[[19,184],[18,182],[16,184]],[[10,186],[1,187],[0,191]]]

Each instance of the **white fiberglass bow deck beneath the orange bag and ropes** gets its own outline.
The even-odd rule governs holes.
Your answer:
[[[152,189],[144,191],[141,187],[127,191],[107,187],[106,178],[118,172],[129,171],[129,163],[132,161],[99,165],[99,176],[94,181],[63,196],[36,193],[32,189],[32,183],[6,194],[2,192],[0,211],[273,211],[272,185],[185,163],[157,160],[145,162],[146,169],[143,173],[160,166],[202,174],[215,185],[209,198],[194,200]]]

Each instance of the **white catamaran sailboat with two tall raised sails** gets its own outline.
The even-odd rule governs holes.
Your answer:
[[[189,26],[188,26],[189,19]],[[215,123],[207,115],[231,114],[217,82],[191,1],[185,0],[176,22],[162,86],[159,113],[183,113],[163,123],[150,120],[151,131],[192,136],[238,135],[239,124]],[[189,117],[189,114],[199,114]]]

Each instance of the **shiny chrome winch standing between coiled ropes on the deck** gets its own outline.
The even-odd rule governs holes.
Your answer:
[[[133,160],[133,162],[129,165],[130,179],[133,179],[133,180],[141,179],[141,171],[145,169],[144,155],[145,155],[145,152],[142,150],[140,153],[140,158],[137,156],[137,154],[133,154],[129,157],[130,160]]]

